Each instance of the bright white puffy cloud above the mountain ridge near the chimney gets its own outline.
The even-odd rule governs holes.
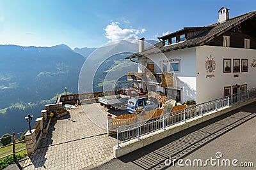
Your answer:
[[[116,41],[121,39],[138,39],[138,34],[142,34],[146,29],[122,29],[119,22],[111,22],[104,28],[105,37],[110,41]]]

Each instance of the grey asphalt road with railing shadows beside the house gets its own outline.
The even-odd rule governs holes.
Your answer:
[[[188,168],[256,169],[256,103],[161,139],[95,169]]]

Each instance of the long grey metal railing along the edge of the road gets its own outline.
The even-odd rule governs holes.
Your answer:
[[[167,113],[149,120],[142,120],[135,124],[118,127],[116,128],[117,146],[119,147],[121,143],[131,141],[132,139],[140,139],[141,136],[145,136],[146,134],[161,129],[164,130],[171,125],[179,124],[180,122],[186,123],[186,120],[191,118],[202,117],[205,113],[217,111],[220,108],[240,103],[241,101],[245,101],[246,99],[255,96],[256,89],[252,89],[239,94],[222,97],[214,101],[209,101],[207,103],[197,104],[196,106],[191,106],[182,110],[173,111],[172,113]]]

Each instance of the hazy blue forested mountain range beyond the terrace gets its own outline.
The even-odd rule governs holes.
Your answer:
[[[131,55],[132,49],[138,45],[126,41],[113,45],[111,52],[117,52],[115,55],[108,53],[108,48],[72,50],[63,44],[51,47],[0,45],[0,136],[5,132],[28,129],[24,117],[28,113],[40,117],[44,105],[53,103],[57,93],[65,94],[65,87],[68,94],[76,94],[81,67],[92,52],[94,55],[88,60],[93,62],[86,70],[90,71],[94,64],[100,66],[93,80],[93,91],[100,91],[102,81],[111,68],[120,63],[123,63],[120,69],[129,67],[125,57]],[[118,53],[118,49],[127,52]],[[104,62],[99,55],[102,52],[109,55]],[[131,84],[125,80],[126,74],[116,83],[117,87],[130,87]]]

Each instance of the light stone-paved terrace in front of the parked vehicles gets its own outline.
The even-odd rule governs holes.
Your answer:
[[[69,111],[51,123],[24,169],[91,169],[114,158],[116,139],[93,124],[81,106]]]

